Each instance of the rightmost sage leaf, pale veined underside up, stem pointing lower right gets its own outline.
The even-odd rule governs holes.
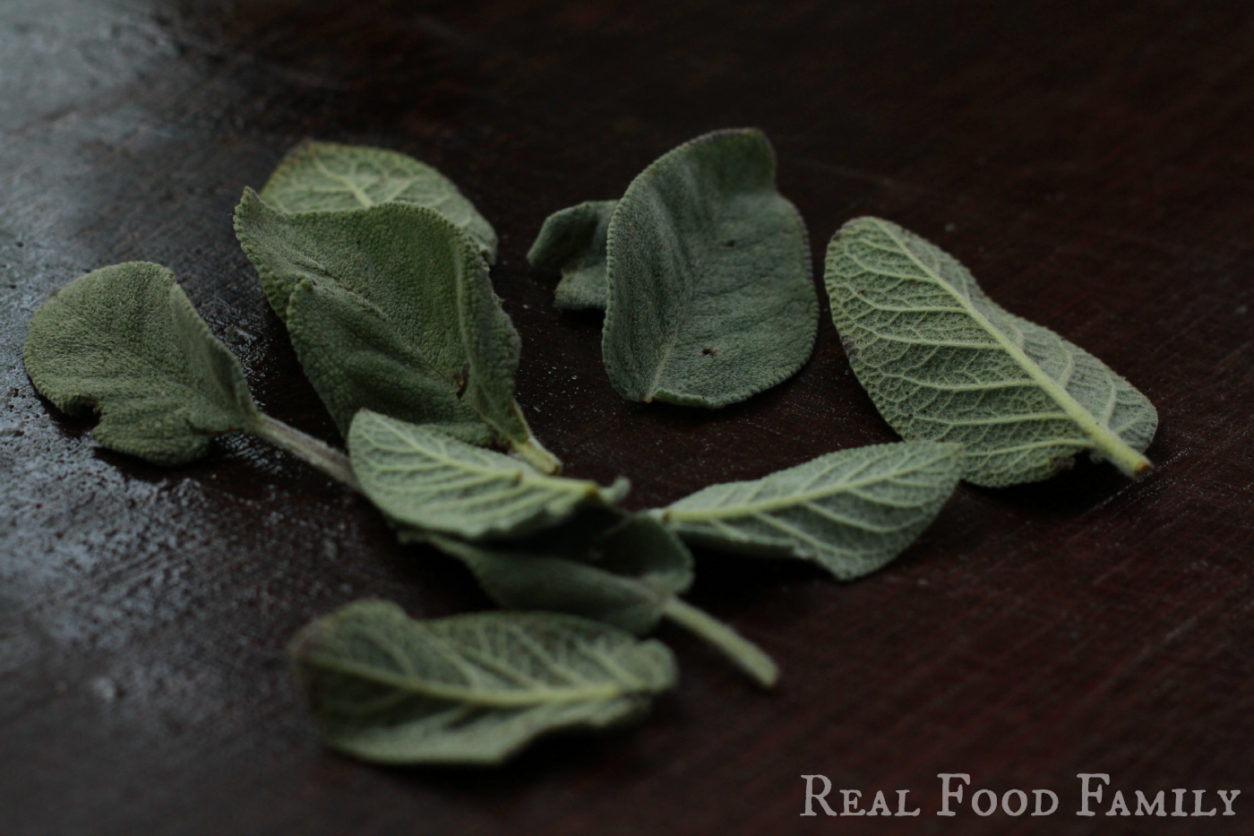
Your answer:
[[[958,261],[874,217],[828,247],[831,316],[854,374],[904,438],[958,442],[964,478],[1048,478],[1088,451],[1129,476],[1157,427],[1154,404],[1101,360],[1007,313]]]

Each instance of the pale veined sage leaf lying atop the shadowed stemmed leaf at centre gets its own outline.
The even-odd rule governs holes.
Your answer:
[[[362,409],[349,431],[361,491],[401,526],[468,540],[548,528],[586,505],[612,505],[628,490],[544,476],[517,458],[463,443],[436,427]]]

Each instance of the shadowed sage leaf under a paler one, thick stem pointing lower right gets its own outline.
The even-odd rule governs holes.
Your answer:
[[[589,507],[543,533],[505,544],[403,533],[403,540],[415,539],[461,560],[502,606],[569,613],[637,635],[665,616],[715,645],[760,685],[770,688],[779,679],[779,668],[761,649],[678,598],[692,584],[692,556],[648,515]]]

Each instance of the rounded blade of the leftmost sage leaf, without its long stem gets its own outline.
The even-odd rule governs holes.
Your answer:
[[[212,437],[260,421],[240,360],[155,264],[73,281],[35,311],[24,358],[59,409],[100,415],[100,444],[157,464],[197,459]]]

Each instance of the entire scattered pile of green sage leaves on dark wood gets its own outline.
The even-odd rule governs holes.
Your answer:
[[[759,648],[682,600],[686,544],[813,561],[851,580],[900,554],[959,478],[1042,480],[1087,451],[1136,476],[1157,417],[1100,360],[989,300],[971,274],[879,218],[828,250],[833,319],[858,380],[909,441],[627,512],[558,476],[514,402],[519,338],[489,281],[497,235],[449,180],[389,151],[297,147],[234,215],[347,453],[257,409],[234,354],[171,271],[97,270],[31,319],[25,363],[95,439],[178,466],[250,432],[365,495],[401,542],[461,561],[507,611],[415,621],[357,601],[291,644],[330,746],[385,763],[499,763],[540,734],[643,714],[676,684],[671,621],[764,687]],[[761,132],[665,154],[621,200],[551,216],[533,265],[556,304],[606,310],[602,354],[635,400],[717,408],[795,374],[818,331],[805,225]]]

